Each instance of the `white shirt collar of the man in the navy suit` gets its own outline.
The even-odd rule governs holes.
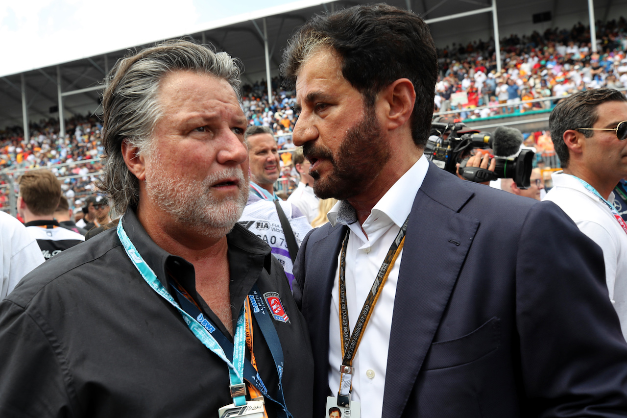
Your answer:
[[[414,196],[418,193],[418,189],[423,184],[424,176],[426,176],[429,168],[424,154],[414,163],[411,168],[406,171],[394,185],[386,191],[381,200],[374,205],[370,216],[364,222],[367,225],[371,220],[381,216],[386,216],[398,227],[402,227],[406,218],[411,212],[411,206],[414,203]],[[411,198],[408,198],[411,196]],[[350,225],[357,222],[357,213],[350,203],[346,200],[335,203],[327,214],[327,218],[332,226],[341,223],[342,225]]]

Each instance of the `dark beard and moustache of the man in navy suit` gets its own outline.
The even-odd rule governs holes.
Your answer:
[[[345,200],[366,190],[389,160],[388,144],[381,132],[374,107],[367,107],[361,121],[347,130],[337,155],[327,146],[306,142],[305,157],[328,159],[333,167],[325,178],[316,170],[310,171],[315,194],[321,199]]]

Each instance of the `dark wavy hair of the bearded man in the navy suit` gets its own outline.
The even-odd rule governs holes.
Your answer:
[[[288,41],[281,73],[293,88],[303,62],[330,47],[342,60],[342,75],[374,105],[376,95],[399,78],[416,90],[411,132],[417,146],[426,144],[433,116],[438,56],[431,32],[416,14],[387,4],[354,6],[315,16]]]

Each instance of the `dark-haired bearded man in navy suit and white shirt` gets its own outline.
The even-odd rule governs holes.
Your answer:
[[[315,17],[283,55],[294,142],[340,200],[294,268],[314,417],[627,416],[601,250],[556,205],[429,163],[437,71],[426,24],[384,4]]]

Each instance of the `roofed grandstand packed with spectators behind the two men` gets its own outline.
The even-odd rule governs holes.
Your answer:
[[[281,52],[293,30],[314,14],[358,3],[367,2],[300,1],[178,36],[240,58],[243,108],[251,125],[270,126],[277,135],[285,154],[280,187],[287,193],[298,181],[288,156],[298,114],[294,92],[284,90],[278,77]],[[429,23],[440,56],[434,117],[488,132],[517,127],[538,151],[534,165],[547,173],[559,168],[547,132],[557,101],[589,88],[627,87],[626,1],[387,3]],[[97,192],[103,78],[120,57],[144,46],[22,73],[0,69],[0,210],[15,214],[16,180],[31,169],[50,168],[73,206]]]

